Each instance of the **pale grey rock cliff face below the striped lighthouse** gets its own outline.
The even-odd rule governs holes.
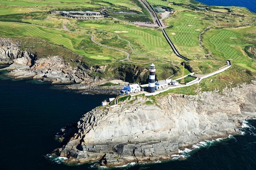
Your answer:
[[[131,97],[113,108],[95,108],[81,117],[77,132],[56,153],[69,163],[100,160],[107,166],[172,159],[178,149],[240,134],[243,119],[256,116],[255,84],[223,94],[158,96],[156,102]]]

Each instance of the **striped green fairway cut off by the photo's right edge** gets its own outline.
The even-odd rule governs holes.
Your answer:
[[[256,61],[247,56],[244,48],[256,43],[256,26],[236,29],[212,29],[204,36],[204,45],[218,59],[232,59],[238,65],[256,72]],[[233,37],[231,39],[230,37]]]

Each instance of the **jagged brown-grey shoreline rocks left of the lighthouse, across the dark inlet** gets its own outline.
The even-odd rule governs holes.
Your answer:
[[[21,50],[19,41],[0,38],[0,64],[9,65],[4,68],[11,71],[7,75],[17,79],[32,78],[50,81],[52,84],[66,84],[71,90],[97,94],[117,94],[126,82],[115,86],[102,86],[113,79],[91,76],[91,72],[104,73],[106,66],[72,67],[61,56],[38,58],[36,53]],[[70,85],[67,85],[70,84]]]

